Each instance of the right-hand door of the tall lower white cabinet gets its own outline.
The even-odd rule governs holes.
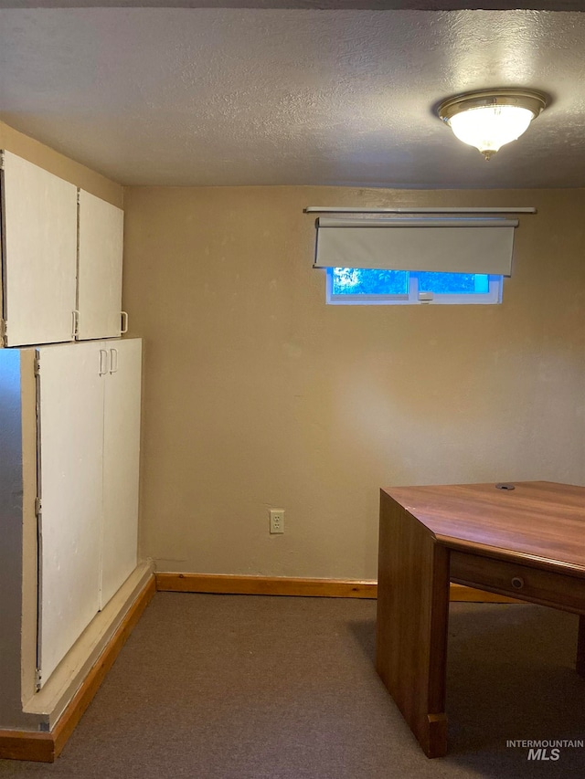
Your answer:
[[[101,606],[137,563],[142,341],[103,342],[108,349],[103,435]]]

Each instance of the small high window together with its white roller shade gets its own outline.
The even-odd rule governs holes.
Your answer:
[[[512,273],[515,219],[316,221],[314,268],[337,305],[499,303]]]

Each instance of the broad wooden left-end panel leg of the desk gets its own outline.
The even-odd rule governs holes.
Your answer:
[[[449,551],[381,493],[376,667],[428,757],[447,751]]]

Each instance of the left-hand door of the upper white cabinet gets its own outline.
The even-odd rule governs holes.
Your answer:
[[[16,154],[2,156],[6,345],[71,341],[77,187]]]

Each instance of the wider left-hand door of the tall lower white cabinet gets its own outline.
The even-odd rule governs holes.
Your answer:
[[[105,353],[83,343],[38,354],[42,684],[100,606]]]

